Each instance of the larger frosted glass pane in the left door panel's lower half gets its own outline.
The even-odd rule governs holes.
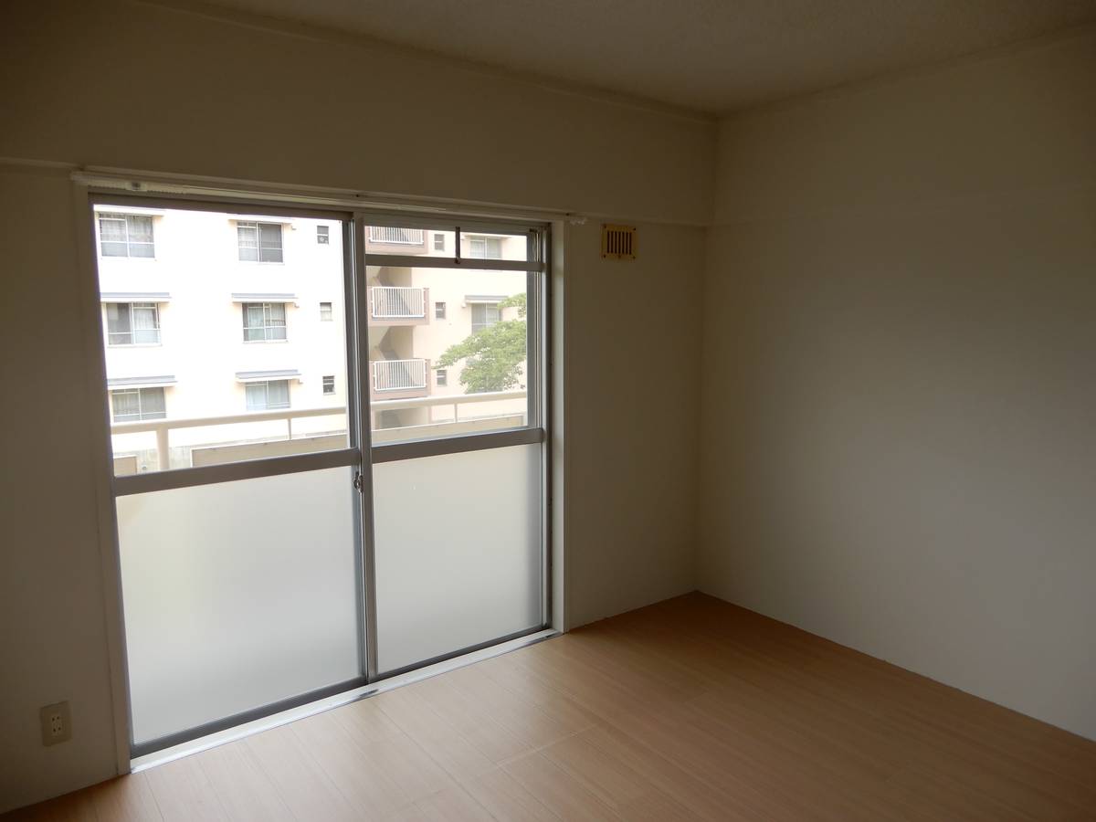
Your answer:
[[[359,674],[351,479],[117,498],[136,742]]]

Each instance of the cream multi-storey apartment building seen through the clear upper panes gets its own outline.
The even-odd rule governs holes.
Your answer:
[[[520,235],[367,227],[369,396],[375,441],[523,424],[524,366],[469,391],[443,354],[522,311]],[[117,473],[279,456],[346,443],[343,224],[338,219],[99,205],[95,241]],[[368,259],[367,259],[368,262]],[[398,262],[398,261],[397,261]],[[452,398],[452,401],[450,401]],[[167,465],[164,465],[167,461]]]

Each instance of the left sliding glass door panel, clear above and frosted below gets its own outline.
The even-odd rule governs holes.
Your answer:
[[[139,754],[364,682],[352,222],[93,222]]]

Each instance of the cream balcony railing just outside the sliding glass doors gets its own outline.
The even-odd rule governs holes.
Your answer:
[[[386,361],[386,362],[407,362],[407,361]],[[425,361],[423,361],[425,363]],[[453,420],[442,421],[437,423],[442,426],[460,426],[464,425],[468,431],[475,429],[469,427],[478,422],[482,422],[486,419],[490,420],[505,420],[507,416],[515,416],[514,425],[523,424],[521,422],[521,412],[507,412],[501,415],[495,414],[492,418],[472,418],[469,420],[467,416],[461,416],[460,409],[466,406],[479,406],[484,402],[500,402],[504,400],[524,400],[526,393],[524,390],[517,391],[488,391],[483,393],[458,393],[449,397],[419,397],[409,399],[396,399],[396,400],[375,400],[369,403],[369,410],[374,413],[388,410],[402,410],[412,408],[436,408],[441,406],[452,406],[453,407]],[[224,416],[202,416],[202,418],[189,418],[189,419],[178,419],[178,420],[141,420],[135,422],[118,422],[111,425],[111,434],[139,434],[142,432],[155,432],[156,433],[156,452],[157,452],[157,464],[159,469],[168,470],[170,467],[170,443],[169,435],[172,431],[179,431],[183,429],[205,429],[215,425],[233,425],[238,423],[261,423],[261,422],[272,422],[275,420],[282,420],[286,423],[286,432],[284,441],[276,442],[295,442],[293,421],[302,420],[308,418],[320,418],[320,416],[334,416],[343,415],[342,424],[339,425],[333,431],[326,432],[328,436],[331,435],[342,435],[345,436],[346,433],[346,422],[345,422],[346,409],[344,408],[293,408],[293,409],[281,409],[277,411],[248,411],[242,414],[231,414]],[[393,430],[398,431],[398,430]],[[459,429],[458,429],[459,431]],[[442,433],[454,433],[452,430]],[[305,434],[305,436],[310,436],[310,434]],[[232,437],[229,441],[214,441],[212,443],[206,443],[204,445],[192,445],[193,448],[202,447],[219,447],[231,445],[236,442],[244,442],[248,444],[253,444],[250,439],[238,439]],[[264,437],[263,442],[270,442]],[[339,447],[339,446],[333,446]],[[250,458],[250,457],[249,457]],[[230,460],[237,461],[237,460]],[[179,466],[176,466],[179,467]]]

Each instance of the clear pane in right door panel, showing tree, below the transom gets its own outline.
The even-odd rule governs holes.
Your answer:
[[[366,275],[375,444],[526,424],[524,272],[370,265]]]

